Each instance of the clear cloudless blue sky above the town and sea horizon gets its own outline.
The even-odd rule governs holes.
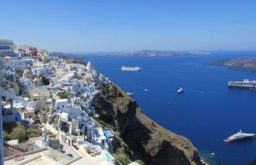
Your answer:
[[[0,38],[51,51],[255,50],[256,1],[1,1]]]

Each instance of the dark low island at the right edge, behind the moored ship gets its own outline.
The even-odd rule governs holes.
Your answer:
[[[250,59],[231,59],[223,61],[213,61],[206,63],[212,66],[227,66],[228,69],[238,71],[253,71],[256,72],[256,57]]]

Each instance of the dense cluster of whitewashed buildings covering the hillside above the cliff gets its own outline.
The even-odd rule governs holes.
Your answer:
[[[73,149],[76,146],[81,159],[101,157],[99,164],[115,161],[109,154],[115,133],[98,127],[93,118],[93,97],[100,94],[108,78],[90,62],[86,66],[67,64],[46,50],[16,47],[10,40],[0,39],[0,56],[3,120],[43,127],[42,147],[58,148],[65,143]]]

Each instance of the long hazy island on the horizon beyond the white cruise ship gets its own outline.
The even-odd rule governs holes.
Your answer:
[[[103,54],[65,54],[76,58],[81,57],[130,57],[130,56],[184,56],[184,55],[208,55],[205,51],[159,51],[159,50],[139,50],[119,53]]]

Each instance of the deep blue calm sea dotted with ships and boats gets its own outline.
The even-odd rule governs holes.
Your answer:
[[[109,57],[85,61],[91,61],[125,92],[134,93],[132,98],[138,101],[143,113],[166,129],[189,138],[211,164],[246,164],[256,157],[256,137],[237,143],[223,140],[239,129],[256,133],[256,91],[228,89],[227,82],[254,80],[256,73],[203,63],[253,55],[256,52],[239,51],[197,57]],[[143,70],[122,71],[122,66],[140,66]],[[178,95],[180,87],[185,92]],[[146,88],[148,92],[143,90]]]

